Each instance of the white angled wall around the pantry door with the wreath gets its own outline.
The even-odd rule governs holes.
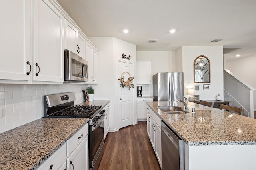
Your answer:
[[[130,55],[132,56],[130,61],[134,62],[136,68],[136,45],[115,37],[89,37],[89,39],[100,51],[100,82],[97,86],[99,93],[95,98],[110,100],[110,131],[117,131],[119,129],[117,89],[119,88],[118,78],[120,78],[120,75],[117,75],[117,61],[122,60],[123,53]],[[136,84],[134,85],[136,87]],[[135,100],[136,90],[135,88],[131,90],[134,90]],[[134,114],[136,109],[135,106]]]

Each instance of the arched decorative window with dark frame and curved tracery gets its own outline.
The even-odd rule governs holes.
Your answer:
[[[211,69],[210,60],[200,55],[194,60],[194,83],[210,83]]]

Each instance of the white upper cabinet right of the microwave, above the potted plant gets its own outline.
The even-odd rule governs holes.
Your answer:
[[[98,84],[99,82],[99,55],[87,41],[85,43],[85,59],[88,61],[88,82],[86,84]]]

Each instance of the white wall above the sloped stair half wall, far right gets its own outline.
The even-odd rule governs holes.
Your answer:
[[[256,55],[226,61],[224,66],[236,76],[256,88]],[[254,111],[256,111],[256,91],[254,91]]]

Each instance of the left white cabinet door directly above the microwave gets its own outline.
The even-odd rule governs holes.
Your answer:
[[[78,30],[68,20],[65,20],[64,48],[78,54]]]

